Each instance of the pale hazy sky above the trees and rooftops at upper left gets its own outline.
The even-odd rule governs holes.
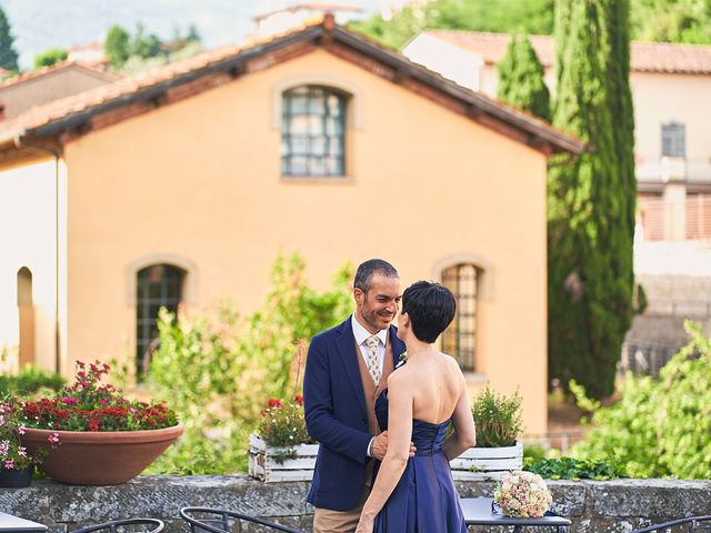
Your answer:
[[[382,0],[346,0],[378,11]],[[120,24],[129,31],[142,22],[148,33],[170,38],[198,27],[206,48],[240,42],[252,29],[252,17],[296,3],[289,0],[0,0],[14,36],[20,68],[30,69],[34,56],[48,48],[70,48],[101,41],[107,30]]]

